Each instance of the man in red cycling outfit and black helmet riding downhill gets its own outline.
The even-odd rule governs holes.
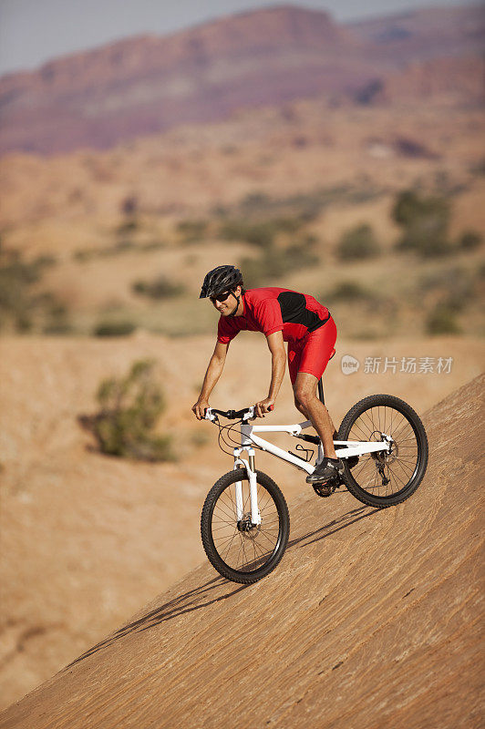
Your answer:
[[[306,477],[307,483],[325,483],[344,464],[336,457],[335,426],[325,405],[316,396],[316,385],[334,351],[335,322],[328,309],[313,296],[289,289],[244,289],[242,273],[231,265],[217,266],[208,272],[201,288],[201,299],[210,298],[221,314],[217,341],[205,373],[201,394],[192,411],[201,420],[209,407],[209,397],[222,374],[232,339],[242,330],[262,332],[272,355],[269,393],[255,404],[258,417],[273,409],[284,377],[288,343],[288,368],[294,390],[294,404],[311,421],[324,447],[324,458]]]

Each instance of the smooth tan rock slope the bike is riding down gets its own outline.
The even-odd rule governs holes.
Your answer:
[[[484,384],[428,411],[404,504],[305,494],[268,578],[202,564],[0,726],[478,727]]]

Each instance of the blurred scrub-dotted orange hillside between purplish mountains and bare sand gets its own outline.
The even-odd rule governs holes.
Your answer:
[[[480,108],[445,94],[383,108],[300,101],[102,153],[12,155],[2,165],[0,327],[206,334],[210,311],[194,306],[201,280],[233,262],[249,287],[335,300],[351,337],[407,336],[410,321],[412,336],[435,334],[437,319],[439,334],[483,334],[482,139]],[[407,190],[417,211],[436,210],[404,250],[395,210]],[[428,231],[435,247],[421,251]]]

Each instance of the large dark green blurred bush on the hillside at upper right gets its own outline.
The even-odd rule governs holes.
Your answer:
[[[397,195],[392,217],[403,229],[397,250],[415,252],[423,258],[451,252],[447,198],[425,197],[414,190],[404,190]]]

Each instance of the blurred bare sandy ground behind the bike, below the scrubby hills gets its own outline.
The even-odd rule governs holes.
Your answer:
[[[74,660],[140,603],[204,560],[202,503],[215,480],[231,467],[231,457],[217,447],[216,428],[198,423],[190,410],[212,347],[212,336],[172,340],[143,332],[110,341],[3,340],[3,706]],[[402,397],[422,415],[479,375],[484,361],[483,343],[467,338],[369,343],[339,334],[336,348],[325,377],[325,398],[337,426],[357,400],[379,392]],[[361,363],[353,375],[342,372],[344,354]],[[378,372],[365,371],[366,357],[380,358]],[[397,361],[397,372],[392,366],[383,372],[386,357]],[[416,358],[415,373],[399,374],[403,357],[406,362]],[[449,371],[438,371],[439,357],[451,359]],[[157,380],[167,398],[160,432],[172,438],[178,458],[172,463],[103,456],[78,423],[79,416],[97,410],[95,394],[102,379],[124,375],[132,362],[147,358],[157,361]],[[421,360],[432,371],[428,367],[419,373]],[[265,394],[270,366],[263,337],[240,334],[212,404],[226,408],[253,403]],[[300,419],[285,379],[276,411],[266,422]],[[294,446],[288,436],[275,436],[275,442]],[[295,498],[308,494],[302,474],[292,467],[265,454],[258,454],[257,463],[283,488],[290,508]],[[335,495],[335,500],[341,498]],[[330,504],[332,499],[312,501],[316,513],[325,514],[325,523]]]

